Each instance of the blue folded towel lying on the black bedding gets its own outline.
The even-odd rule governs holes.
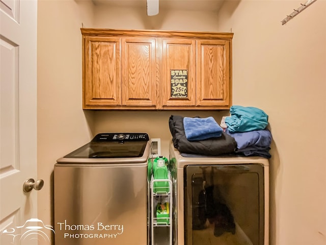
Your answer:
[[[221,137],[223,132],[212,116],[206,118],[184,117],[183,127],[185,137],[189,141]]]

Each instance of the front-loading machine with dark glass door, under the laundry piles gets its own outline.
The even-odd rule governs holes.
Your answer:
[[[169,152],[175,244],[268,245],[268,159]]]

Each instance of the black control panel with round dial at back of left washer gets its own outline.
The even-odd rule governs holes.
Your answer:
[[[146,133],[101,133],[97,134],[92,142],[107,141],[148,141]]]

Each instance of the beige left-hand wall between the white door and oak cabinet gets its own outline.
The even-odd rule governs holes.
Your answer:
[[[82,110],[82,22],[88,1],[38,1],[38,218],[51,224],[53,165],[92,137],[92,112]]]

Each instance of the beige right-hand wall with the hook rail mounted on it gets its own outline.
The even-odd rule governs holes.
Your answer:
[[[302,1],[227,1],[232,28],[233,104],[269,115],[270,241],[326,244],[326,1],[284,26]]]

